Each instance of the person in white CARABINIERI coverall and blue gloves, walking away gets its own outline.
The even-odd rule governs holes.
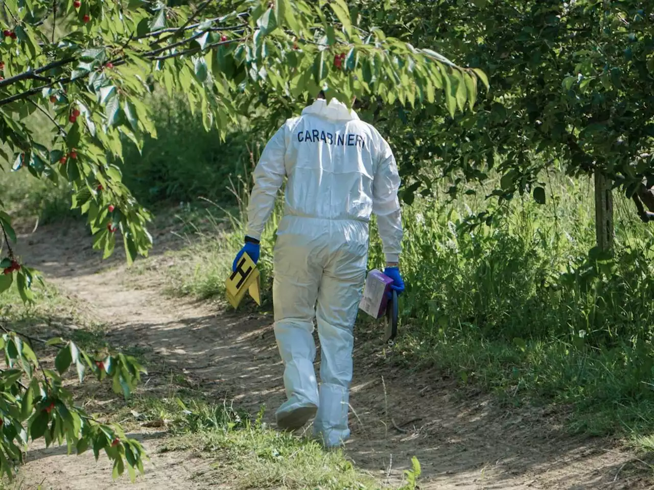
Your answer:
[[[245,246],[234,270],[243,252],[258,260],[259,240],[284,176],[273,309],[287,400],[275,417],[281,429],[295,430],[316,416],[314,433],[329,448],[350,435],[353,327],[366,278],[371,213],[377,216],[385,273],[398,293],[404,291],[398,269],[400,177],[390,146],[372,125],[336,99],[329,104],[317,99],[301,116],[286,120],[262,152],[254,170]],[[321,348],[319,389],[314,318]]]

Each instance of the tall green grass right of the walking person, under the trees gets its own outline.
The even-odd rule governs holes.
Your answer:
[[[617,197],[615,257],[589,254],[593,189],[555,186],[550,204],[517,199],[472,233],[462,219],[479,199],[405,209],[397,350],[502,402],[562,406],[575,433],[638,442],[654,429],[653,236]]]

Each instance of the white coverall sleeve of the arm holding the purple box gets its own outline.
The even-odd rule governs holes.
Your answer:
[[[402,252],[402,212],[398,189],[400,175],[393,152],[382,140],[381,158],[373,180],[373,213],[377,216],[377,227],[387,262],[398,262]]]

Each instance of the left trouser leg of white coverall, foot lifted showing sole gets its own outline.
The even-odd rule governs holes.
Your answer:
[[[298,237],[283,235],[275,245],[273,307],[275,339],[284,362],[284,402],[275,417],[283,429],[299,429],[318,407],[313,369],[316,346],[313,318],[322,267]]]

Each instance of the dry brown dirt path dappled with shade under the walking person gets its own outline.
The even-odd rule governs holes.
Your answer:
[[[219,303],[165,295],[162,270],[175,261],[175,253],[150,257],[136,275],[126,271],[120,251],[103,263],[84,231],[73,227],[65,236],[58,233],[41,228],[24,236],[20,252],[77,308],[105,321],[104,340],[144,357],[149,374],[139,396],[169,397],[182,388],[251,414],[265,403],[264,419],[273,421],[284,393],[269,315],[228,312]],[[167,243],[169,249],[179,246]],[[48,324],[56,329],[58,320]],[[613,490],[652,484],[640,460],[614,442],[567,436],[560,414],[500,408],[491,396],[461,390],[437,370],[409,373],[383,353],[381,331],[358,331],[355,346],[353,436],[344,452],[379,485],[401,485],[413,456],[422,466],[421,489]],[[94,403],[124,405],[110,392],[100,395],[90,411]],[[127,475],[112,480],[109,463],[103,457],[96,463],[91,451],[77,457],[67,456],[65,448],[34,446],[20,471],[21,488],[42,482],[43,489],[301,488],[283,475],[261,481],[245,474],[254,466],[230,460],[229,448],[171,445],[165,421],[163,427],[148,427],[156,424],[139,421],[137,412],[122,412],[151,458],[136,483]],[[251,451],[256,458],[257,448]],[[298,457],[298,451],[288,455]],[[267,464],[277,465],[274,461]]]

